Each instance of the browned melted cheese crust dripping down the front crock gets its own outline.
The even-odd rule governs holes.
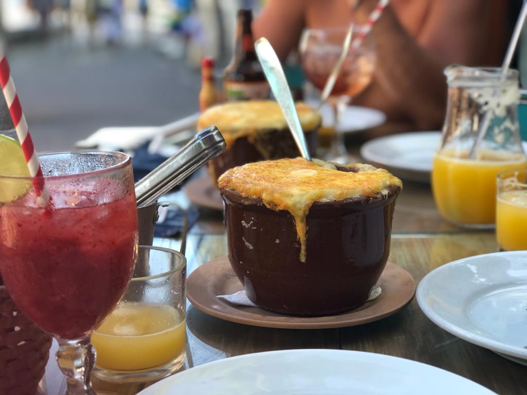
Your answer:
[[[384,169],[357,163],[356,172],[337,170],[332,164],[303,158],[262,161],[234,167],[220,176],[218,186],[243,197],[261,199],[268,209],[289,211],[300,240],[300,260],[306,259],[306,217],[314,202],[387,194],[388,186],[403,187]]]

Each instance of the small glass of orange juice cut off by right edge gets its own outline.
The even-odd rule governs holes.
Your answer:
[[[527,170],[497,176],[496,239],[502,250],[527,250]]]

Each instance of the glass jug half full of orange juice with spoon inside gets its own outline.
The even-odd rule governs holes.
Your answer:
[[[447,221],[492,228],[497,174],[527,167],[516,112],[518,71],[509,70],[502,78],[499,68],[454,65],[445,69],[445,75],[448,105],[434,156],[434,199]]]

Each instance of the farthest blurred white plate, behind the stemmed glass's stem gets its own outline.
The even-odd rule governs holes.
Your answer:
[[[311,107],[316,108],[318,102],[306,101]],[[333,125],[333,111],[329,104],[324,104],[320,107],[320,114],[322,115],[322,124],[324,126]],[[344,114],[340,120],[337,130],[340,133],[359,132],[371,127],[382,125],[386,121],[386,115],[374,108],[347,106]]]

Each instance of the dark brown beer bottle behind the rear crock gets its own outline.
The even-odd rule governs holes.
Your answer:
[[[235,52],[225,71],[225,99],[228,102],[269,98],[270,87],[256,56],[251,23],[251,10],[240,9]]]

